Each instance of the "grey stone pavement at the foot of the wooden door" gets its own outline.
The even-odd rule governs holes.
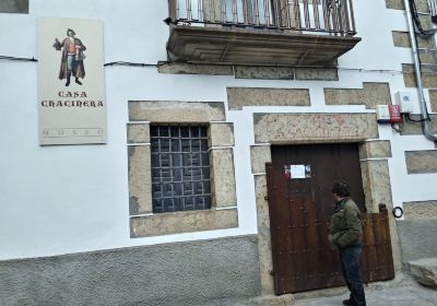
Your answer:
[[[437,306],[437,290],[421,286],[410,279],[365,286],[367,306]],[[349,298],[345,287],[294,295],[293,306],[341,306]]]

